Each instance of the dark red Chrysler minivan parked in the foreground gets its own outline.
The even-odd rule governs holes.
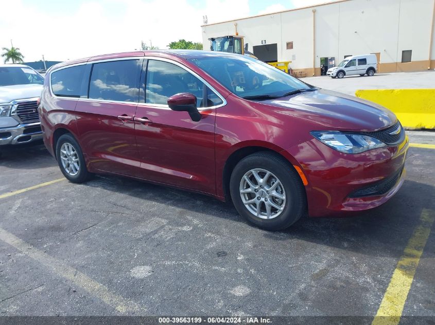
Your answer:
[[[40,118],[71,182],[105,173],[175,186],[232,200],[267,230],[376,207],[404,182],[408,138],[391,111],[238,54],[61,63],[46,74]]]

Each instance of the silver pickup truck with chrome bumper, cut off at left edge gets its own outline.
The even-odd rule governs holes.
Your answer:
[[[43,84],[29,66],[0,64],[0,151],[3,145],[42,139],[37,101]]]

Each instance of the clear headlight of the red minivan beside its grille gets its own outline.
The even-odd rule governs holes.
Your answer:
[[[365,135],[339,131],[311,131],[310,133],[327,146],[345,154],[359,154],[360,152],[387,146],[384,142]]]

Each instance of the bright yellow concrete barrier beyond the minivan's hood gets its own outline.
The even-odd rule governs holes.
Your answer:
[[[390,109],[406,129],[435,129],[435,89],[370,89],[355,95]]]

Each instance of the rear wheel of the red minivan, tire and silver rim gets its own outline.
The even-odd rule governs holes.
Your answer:
[[[59,138],[56,143],[56,158],[63,176],[68,181],[83,183],[91,178],[80,145],[71,134],[66,133]]]

